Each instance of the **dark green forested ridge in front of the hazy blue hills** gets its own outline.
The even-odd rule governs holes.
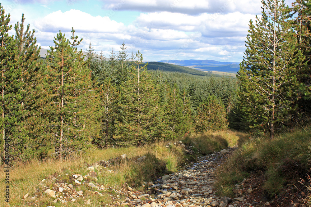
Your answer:
[[[162,70],[166,72],[179,72],[179,73],[186,73],[191,75],[200,75],[200,76],[211,76],[212,74],[203,72],[200,70],[196,70],[193,68],[180,66],[180,65],[174,65],[169,63],[163,63],[163,62],[148,62],[147,69],[148,70]]]

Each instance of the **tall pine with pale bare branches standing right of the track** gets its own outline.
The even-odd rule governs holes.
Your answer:
[[[249,24],[245,56],[237,78],[240,82],[240,111],[249,128],[266,126],[273,139],[278,123],[291,119],[296,109],[298,84],[292,67],[293,33],[284,1],[262,1],[262,16]],[[299,61],[298,61],[299,62]]]

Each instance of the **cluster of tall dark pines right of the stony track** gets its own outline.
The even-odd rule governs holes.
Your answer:
[[[310,107],[311,3],[262,1],[262,16],[249,22],[240,88],[230,127],[275,132],[308,123]]]

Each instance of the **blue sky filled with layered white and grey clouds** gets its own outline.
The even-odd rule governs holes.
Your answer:
[[[285,0],[290,4],[294,0]],[[250,19],[261,14],[260,0],[0,0],[11,24],[20,21],[35,29],[42,48],[53,46],[61,30],[71,28],[109,56],[123,40],[129,53],[144,60],[211,59],[240,62]],[[11,34],[14,34],[11,31]]]

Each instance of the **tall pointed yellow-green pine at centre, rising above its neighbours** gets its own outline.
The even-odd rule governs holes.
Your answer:
[[[119,132],[115,136],[119,145],[138,146],[159,137],[159,113],[155,86],[146,64],[142,67],[142,54],[136,53],[137,61],[132,66],[130,78],[121,88]]]

